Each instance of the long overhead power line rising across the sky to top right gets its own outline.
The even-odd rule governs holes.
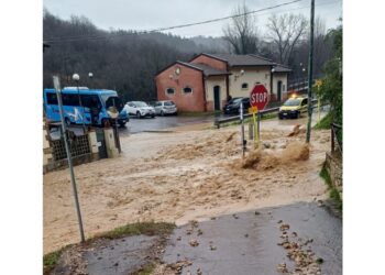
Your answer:
[[[195,23],[188,23],[188,24],[167,26],[167,28],[158,28],[158,29],[153,29],[153,30],[150,30],[150,31],[134,31],[132,33],[117,33],[117,34],[108,34],[108,35],[103,35],[103,36],[94,35],[94,36],[53,37],[53,38],[46,38],[46,40],[44,40],[44,42],[45,43],[63,43],[63,42],[74,42],[74,41],[81,41],[81,40],[100,40],[100,38],[103,40],[103,38],[111,38],[111,37],[121,36],[121,35],[128,35],[128,34],[144,34],[144,33],[163,32],[163,31],[168,31],[168,30],[188,28],[188,26],[193,26],[193,25],[208,24],[208,23],[223,21],[223,20],[228,20],[228,19],[245,16],[245,15],[249,15],[249,14],[253,14],[253,13],[257,13],[257,12],[262,12],[262,11],[267,11],[267,10],[273,10],[273,9],[276,9],[276,8],[280,8],[280,7],[288,6],[288,4],[296,3],[296,2],[300,2],[300,1],[302,1],[302,0],[295,0],[295,1],[292,1],[292,2],[285,2],[285,3],[280,3],[280,4],[263,8],[263,9],[260,9],[260,10],[254,10],[254,11],[249,11],[249,12],[235,14],[235,15],[218,18],[218,19],[211,19],[211,20],[206,20],[206,21],[195,22]]]

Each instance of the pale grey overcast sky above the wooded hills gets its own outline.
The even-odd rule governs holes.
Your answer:
[[[293,0],[245,0],[251,10],[258,10]],[[69,19],[72,14],[85,15],[96,26],[105,30],[153,30],[186,23],[195,23],[231,15],[243,0],[44,0],[44,7],[53,14]],[[272,13],[302,13],[309,18],[310,0],[256,13],[257,24],[263,31]],[[338,25],[342,16],[342,0],[316,0],[316,16],[324,19],[327,29]],[[173,34],[190,37],[196,35],[221,36],[229,22],[176,29]]]

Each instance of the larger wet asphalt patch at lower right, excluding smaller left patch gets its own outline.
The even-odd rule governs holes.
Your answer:
[[[255,211],[223,216],[201,222],[187,234],[190,226],[176,229],[166,249],[167,264],[182,260],[191,261],[182,274],[255,274],[277,275],[277,265],[286,263],[294,271],[294,262],[286,256],[282,241],[279,220],[290,226],[304,240],[314,241],[307,249],[323,260],[321,274],[342,274],[342,221],[317,202],[299,202],[289,206],[265,208]],[[189,242],[197,240],[198,246]],[[306,273],[305,273],[306,274]]]

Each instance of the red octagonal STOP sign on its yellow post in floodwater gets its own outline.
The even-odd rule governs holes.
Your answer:
[[[263,110],[268,102],[268,92],[262,84],[255,85],[253,90],[250,94],[250,105],[252,106],[250,108],[250,111],[253,113],[253,121],[254,121],[254,129],[255,131],[255,143],[254,148],[260,146],[260,120],[261,120],[261,113],[260,111]],[[255,120],[255,114],[257,117],[257,121]]]

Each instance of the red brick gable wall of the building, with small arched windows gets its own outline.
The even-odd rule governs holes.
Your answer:
[[[175,68],[180,68],[179,76],[175,75]],[[169,78],[173,75],[173,78]],[[205,110],[205,91],[202,73],[187,66],[175,64],[162,72],[155,78],[157,99],[173,100],[178,111],[185,112],[204,112]],[[184,94],[183,88],[186,86],[193,88],[191,94]],[[175,88],[175,95],[166,95],[167,88]]]

